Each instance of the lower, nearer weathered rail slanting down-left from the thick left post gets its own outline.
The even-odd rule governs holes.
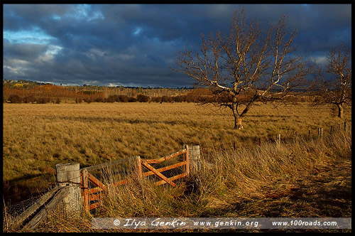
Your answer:
[[[47,218],[48,214],[50,213],[51,210],[53,210],[59,203],[62,202],[62,200],[69,194],[69,186],[65,186],[63,188],[60,188],[60,191],[55,193],[53,196],[52,200],[45,205],[45,207],[40,210],[40,212],[35,215],[26,225],[25,227],[28,227],[30,229],[33,229],[36,227],[42,220]]]

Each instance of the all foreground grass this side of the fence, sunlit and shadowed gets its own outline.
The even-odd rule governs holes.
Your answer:
[[[175,188],[155,186],[146,178],[109,187],[94,217],[351,217],[351,132],[298,139],[278,148],[263,144],[239,151],[218,149],[212,157],[212,168],[192,171]],[[127,231],[92,230],[91,217],[55,211],[35,231]]]

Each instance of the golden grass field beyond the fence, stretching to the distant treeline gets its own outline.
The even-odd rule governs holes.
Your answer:
[[[275,134],[285,139],[312,129],[315,135],[317,127],[328,132],[331,124],[343,122],[331,111],[307,103],[278,109],[262,104],[238,131],[231,129],[229,110],[192,103],[4,104],[4,181],[42,174],[56,163],[157,158],[182,144],[241,147]],[[344,114],[351,121],[351,109]]]

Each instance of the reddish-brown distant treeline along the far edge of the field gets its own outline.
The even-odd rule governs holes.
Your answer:
[[[56,103],[60,102],[199,102],[199,103],[227,103],[230,102],[232,97],[224,93],[214,93],[208,89],[195,89],[188,90],[185,93],[174,90],[174,94],[178,95],[161,95],[161,96],[149,96],[143,93],[138,93],[136,90],[126,90],[128,95],[123,94],[111,94],[114,92],[124,93],[121,88],[104,87],[103,91],[97,90],[80,90],[75,86],[57,86],[57,85],[39,85],[24,89],[23,87],[9,87],[3,86],[3,98],[4,102],[11,103]],[[107,92],[110,90],[110,92]],[[168,89],[166,89],[168,91]],[[166,92],[165,91],[165,92]],[[157,92],[158,93],[158,92]],[[241,95],[238,97],[239,102],[247,102],[249,97],[253,96],[253,92],[250,94]],[[302,97],[293,97],[295,102],[310,102],[317,99],[315,95],[306,95]]]

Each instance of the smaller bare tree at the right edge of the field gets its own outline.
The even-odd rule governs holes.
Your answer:
[[[317,87],[320,89],[318,104],[334,104],[338,117],[343,118],[344,105],[351,105],[351,50],[338,45],[327,53],[327,73],[335,75],[330,80],[321,75]]]

